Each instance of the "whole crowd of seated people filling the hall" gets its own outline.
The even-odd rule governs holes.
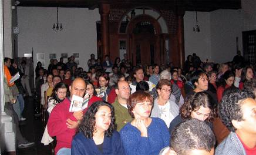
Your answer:
[[[181,69],[92,54],[86,72],[74,60],[37,68],[55,154],[256,154],[250,63],[193,54]],[[86,109],[70,112],[74,95],[89,96]]]

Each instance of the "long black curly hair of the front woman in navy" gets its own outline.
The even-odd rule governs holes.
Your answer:
[[[110,108],[111,111],[111,123],[109,125],[109,129],[105,131],[105,135],[107,137],[111,137],[112,133],[116,129],[116,125],[114,124],[115,122],[115,117],[114,117],[114,107],[110,105],[110,103],[107,103],[105,101],[98,101],[93,103],[85,115],[83,116],[82,121],[80,122],[78,129],[76,130],[76,133],[82,132],[85,134],[85,137],[88,139],[92,139],[93,137],[93,132],[95,131],[95,114],[99,110],[101,106],[107,106]]]

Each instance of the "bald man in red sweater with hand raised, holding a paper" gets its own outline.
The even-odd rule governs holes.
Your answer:
[[[69,86],[70,97],[66,97],[62,102],[56,105],[48,120],[48,133],[51,137],[56,136],[57,144],[55,154],[71,154],[71,142],[76,133],[76,127],[83,118],[83,111],[69,112],[72,96],[83,97],[85,95],[86,83],[82,78],[73,80]]]

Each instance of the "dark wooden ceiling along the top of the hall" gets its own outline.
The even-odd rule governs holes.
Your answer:
[[[160,5],[163,8],[181,7],[186,11],[214,11],[216,9],[240,9],[241,0],[18,0],[18,6],[43,6],[43,7],[69,7],[69,8],[98,8],[100,3]]]

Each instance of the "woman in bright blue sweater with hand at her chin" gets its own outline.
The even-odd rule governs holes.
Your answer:
[[[134,92],[127,107],[134,118],[120,130],[124,150],[127,155],[159,154],[169,146],[170,134],[166,123],[159,118],[149,117],[153,97],[144,91]]]

